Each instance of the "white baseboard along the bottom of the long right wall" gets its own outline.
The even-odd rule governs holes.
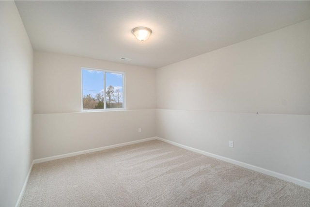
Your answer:
[[[180,143],[175,143],[175,142],[172,142],[172,141],[160,138],[160,137],[157,137],[157,140],[160,140],[160,141],[163,141],[163,142],[166,142],[166,143],[170,143],[170,144],[173,144],[175,146],[178,146],[178,147],[181,147],[181,148],[193,151],[193,152],[197,152],[197,153],[202,154],[202,155],[206,155],[206,156],[209,156],[209,157],[212,157],[212,158],[220,159],[220,160],[223,160],[225,162],[229,162],[229,163],[232,163],[232,164],[235,164],[235,165],[247,168],[249,170],[254,170],[254,171],[263,173],[265,175],[270,175],[270,176],[273,176],[273,177],[277,177],[279,179],[282,179],[282,180],[285,180],[285,181],[288,181],[288,182],[291,182],[291,183],[297,184],[299,186],[303,186],[305,188],[309,188],[310,189],[310,182],[305,181],[305,180],[301,180],[301,179],[298,179],[298,178],[295,178],[295,177],[291,177],[289,175],[283,175],[283,174],[280,174],[280,173],[277,173],[277,172],[274,172],[274,171],[271,171],[271,170],[267,170],[267,169],[264,169],[264,168],[261,168],[261,167],[250,165],[250,164],[245,163],[245,162],[240,162],[240,161],[237,161],[235,159],[230,159],[230,158],[222,157],[222,156],[219,156],[219,155],[216,155],[216,154],[212,154],[212,153],[209,153],[209,152],[206,152],[206,151],[202,151],[200,149],[196,149],[196,148],[193,148],[193,147],[189,147],[189,146],[186,146],[186,145],[183,145],[183,144],[180,144]]]

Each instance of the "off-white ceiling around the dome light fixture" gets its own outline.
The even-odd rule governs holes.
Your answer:
[[[16,6],[35,50],[151,68],[310,19],[310,1],[16,1]],[[138,26],[153,31],[143,43],[131,33]]]

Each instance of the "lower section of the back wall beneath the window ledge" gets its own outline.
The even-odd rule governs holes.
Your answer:
[[[35,114],[34,159],[155,136],[155,109]],[[141,132],[138,132],[141,128]]]

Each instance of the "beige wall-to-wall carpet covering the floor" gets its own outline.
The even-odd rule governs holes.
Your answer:
[[[310,189],[150,141],[35,164],[20,207],[310,207]]]

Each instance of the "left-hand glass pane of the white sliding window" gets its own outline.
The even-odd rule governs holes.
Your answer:
[[[104,109],[104,71],[82,69],[83,110]]]

